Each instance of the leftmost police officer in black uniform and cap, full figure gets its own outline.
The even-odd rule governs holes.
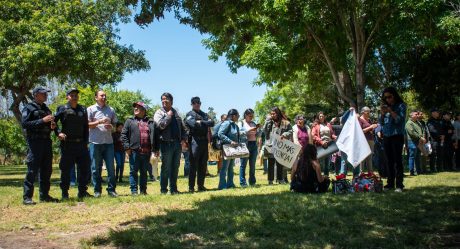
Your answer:
[[[51,130],[55,128],[54,116],[46,106],[50,90],[36,87],[32,94],[34,101],[28,103],[22,109],[22,128],[26,133],[27,151],[27,174],[24,180],[24,205],[34,205],[34,181],[40,176],[40,201],[58,202],[49,195],[50,178],[52,173],[53,153],[51,150]]]

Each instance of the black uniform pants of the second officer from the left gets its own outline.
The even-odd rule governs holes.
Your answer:
[[[67,192],[70,187],[70,170],[73,165],[77,165],[78,192],[85,192],[90,178],[90,157],[84,142],[62,142],[61,161],[61,190]]]

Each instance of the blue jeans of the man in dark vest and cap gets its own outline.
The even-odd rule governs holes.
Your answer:
[[[137,193],[137,186],[142,192],[147,191],[147,167],[150,160],[150,154],[140,154],[132,151],[129,156],[129,185],[131,193]],[[139,172],[139,175],[137,174]]]

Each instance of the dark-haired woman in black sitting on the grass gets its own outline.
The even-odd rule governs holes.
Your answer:
[[[292,167],[291,190],[299,193],[324,193],[328,190],[330,180],[321,175],[316,147],[307,144],[303,148],[302,157]]]

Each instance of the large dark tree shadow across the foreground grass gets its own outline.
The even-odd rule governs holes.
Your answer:
[[[120,224],[125,229],[83,243],[120,248],[458,247],[459,211],[454,187],[402,194],[212,196],[192,210],[132,220]]]

